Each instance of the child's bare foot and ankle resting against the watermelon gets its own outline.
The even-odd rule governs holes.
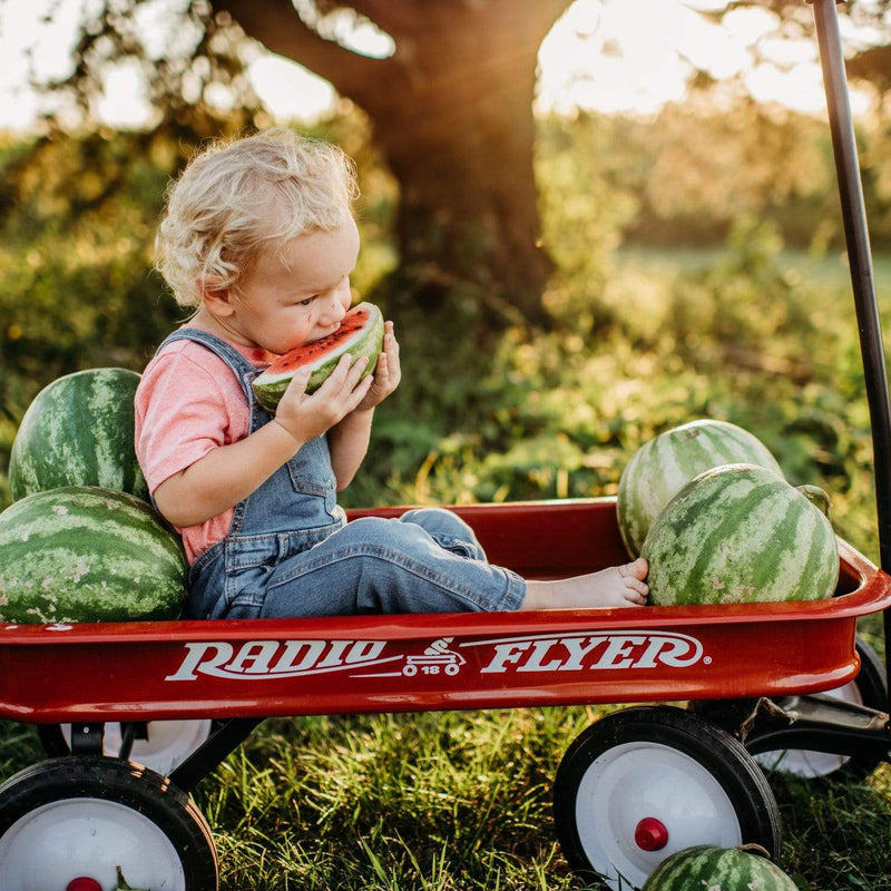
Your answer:
[[[587,576],[526,582],[526,599],[521,609],[595,609],[625,606],[644,606],[649,588],[647,561],[638,557],[634,562],[611,566]]]

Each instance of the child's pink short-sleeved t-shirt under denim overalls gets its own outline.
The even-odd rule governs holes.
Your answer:
[[[265,350],[227,343],[258,369],[276,359]],[[251,410],[238,379],[206,346],[174,341],[143,372],[136,391],[136,457],[150,492],[212,449],[244,439],[249,430]],[[177,529],[189,564],[226,536],[233,511]]]

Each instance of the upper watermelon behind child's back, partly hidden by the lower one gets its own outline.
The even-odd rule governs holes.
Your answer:
[[[134,451],[138,383],[135,371],[89,369],[45,386],[12,443],[12,498],[63,486],[98,486],[148,500]]]

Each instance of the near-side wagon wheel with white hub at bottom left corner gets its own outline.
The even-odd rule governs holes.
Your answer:
[[[72,755],[0,786],[3,891],[216,891],[210,831],[188,796],[136,764]]]

